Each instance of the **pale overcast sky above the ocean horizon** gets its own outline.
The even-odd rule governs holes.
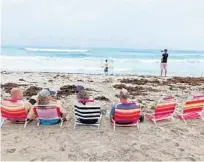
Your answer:
[[[204,50],[204,0],[2,0],[2,45]]]

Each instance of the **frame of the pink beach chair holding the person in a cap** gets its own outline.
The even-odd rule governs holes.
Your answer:
[[[46,109],[43,109],[43,111],[47,111],[47,113],[49,113],[50,110],[55,110],[55,116],[53,117],[42,117],[40,116],[38,110],[42,110],[42,108],[39,108],[39,107],[49,107],[49,108],[46,108]],[[59,119],[60,120],[60,127],[62,127],[63,125],[63,118],[61,117],[61,112],[60,112],[60,108],[57,106],[57,105],[36,105],[34,108],[33,108],[33,111],[36,115],[36,120],[37,120],[37,126],[40,125],[40,120],[54,120],[54,119]]]

